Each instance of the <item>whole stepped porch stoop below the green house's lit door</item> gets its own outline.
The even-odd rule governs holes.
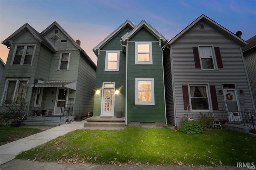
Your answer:
[[[92,116],[86,119],[85,129],[124,129],[125,117]]]

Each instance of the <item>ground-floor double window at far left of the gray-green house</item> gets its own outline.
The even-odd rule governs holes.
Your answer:
[[[3,104],[20,104],[26,96],[28,79],[8,79],[5,83]]]

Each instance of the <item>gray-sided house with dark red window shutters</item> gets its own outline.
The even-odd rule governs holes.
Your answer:
[[[171,39],[164,49],[167,122],[180,125],[200,112],[242,121],[239,111],[255,109],[241,49],[246,44],[204,15]]]

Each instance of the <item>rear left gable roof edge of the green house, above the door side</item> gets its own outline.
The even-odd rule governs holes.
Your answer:
[[[122,29],[124,29],[126,26],[130,26],[132,29],[134,29],[135,25],[130,20],[126,20],[124,23],[122,23],[118,28],[116,28],[108,37],[106,37],[103,41],[101,41],[96,47],[92,49],[92,51],[95,53],[96,56],[98,56],[98,50],[103,47],[108,41],[110,41],[116,34],[118,34]]]

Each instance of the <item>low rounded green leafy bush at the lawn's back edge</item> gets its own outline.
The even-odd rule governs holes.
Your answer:
[[[182,122],[182,127],[180,127],[180,131],[188,134],[201,134],[203,133],[203,127],[198,121],[184,119]]]

